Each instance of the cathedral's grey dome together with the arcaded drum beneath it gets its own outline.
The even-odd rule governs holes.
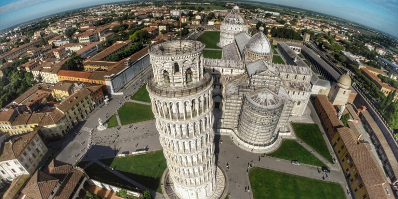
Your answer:
[[[246,58],[252,60],[272,60],[272,48],[267,36],[263,33],[264,28],[260,27],[258,33],[252,36],[244,48]]]

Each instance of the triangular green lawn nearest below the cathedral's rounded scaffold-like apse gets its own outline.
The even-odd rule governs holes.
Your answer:
[[[300,163],[318,167],[324,166],[318,158],[298,144],[296,140],[284,140],[277,151],[268,155],[285,160],[298,160]]]

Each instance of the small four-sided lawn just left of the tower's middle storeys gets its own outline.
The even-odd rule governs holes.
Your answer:
[[[126,102],[119,110],[121,125],[154,119],[150,105]]]

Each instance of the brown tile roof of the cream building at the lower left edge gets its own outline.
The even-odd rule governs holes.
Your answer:
[[[36,135],[37,131],[32,131],[29,133],[9,137],[6,141],[4,141],[4,144],[1,145],[0,162],[16,159]]]

